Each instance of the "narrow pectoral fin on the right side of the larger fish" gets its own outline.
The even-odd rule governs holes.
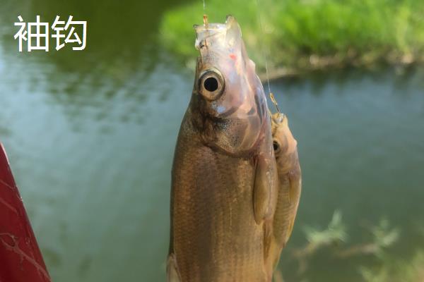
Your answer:
[[[253,212],[256,223],[271,219],[276,208],[278,176],[276,161],[259,155],[256,162],[253,189]]]

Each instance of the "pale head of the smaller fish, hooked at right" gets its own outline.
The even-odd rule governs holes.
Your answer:
[[[288,169],[291,157],[297,152],[298,142],[288,127],[288,118],[284,114],[276,113],[271,116],[271,132],[273,149],[276,156],[278,170]]]

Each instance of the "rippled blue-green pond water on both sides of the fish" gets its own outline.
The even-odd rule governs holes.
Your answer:
[[[0,140],[52,278],[163,281],[172,154],[193,83],[156,41],[175,2],[1,4]],[[37,13],[88,20],[86,51],[19,54],[13,23]],[[298,281],[291,254],[306,243],[302,226],[324,228],[335,209],[351,243],[387,218],[401,229],[391,254],[407,260],[424,248],[423,78],[423,68],[381,68],[272,82],[304,175],[281,259],[288,281]],[[360,281],[358,266],[374,263],[322,250],[305,277]]]

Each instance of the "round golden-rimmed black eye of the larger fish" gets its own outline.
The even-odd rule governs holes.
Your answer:
[[[220,71],[211,69],[204,71],[199,78],[199,93],[210,101],[218,99],[224,90],[224,78]]]

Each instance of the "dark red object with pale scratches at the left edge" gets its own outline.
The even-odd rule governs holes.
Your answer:
[[[49,273],[0,143],[0,282],[49,281]]]

